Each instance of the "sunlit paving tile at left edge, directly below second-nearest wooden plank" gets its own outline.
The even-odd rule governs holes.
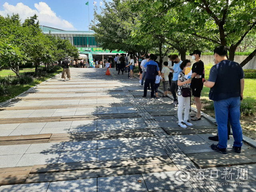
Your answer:
[[[24,154],[30,144],[0,146],[0,158],[2,155]]]

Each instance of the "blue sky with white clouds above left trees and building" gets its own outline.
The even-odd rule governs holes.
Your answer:
[[[22,20],[34,14],[40,24],[63,30],[88,30],[88,0],[0,0],[0,15],[19,13]],[[98,12],[100,1],[95,0]],[[90,21],[93,20],[94,0],[89,0]],[[104,7],[104,2],[102,1]]]

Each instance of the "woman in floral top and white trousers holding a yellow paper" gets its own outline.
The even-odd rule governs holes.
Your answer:
[[[186,92],[190,92],[190,83],[191,79],[186,79],[185,78],[185,69],[186,67],[191,66],[190,60],[186,59],[180,64],[182,72],[179,73],[178,75],[178,103],[179,103],[179,108],[178,108],[178,125],[181,126],[182,128],[187,128],[186,125],[192,126],[192,123],[189,122],[188,120],[188,115],[189,115],[189,110],[190,110],[190,96],[184,97],[183,91],[186,89]],[[191,95],[191,94],[190,94]],[[185,106],[185,111],[184,111],[184,120],[182,119],[182,112],[183,108]]]

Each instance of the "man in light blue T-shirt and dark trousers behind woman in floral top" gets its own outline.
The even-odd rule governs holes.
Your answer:
[[[172,77],[172,83],[170,86],[170,91],[172,92],[172,96],[173,96],[173,103],[172,105],[177,105],[178,104],[178,99],[176,96],[176,92],[178,91],[178,75],[180,74],[180,72],[182,72],[181,68],[180,68],[180,64],[182,63],[182,60],[180,60],[178,58],[178,55],[172,55],[171,56],[171,61],[174,62],[174,65],[172,67],[172,73],[173,73],[173,77]]]

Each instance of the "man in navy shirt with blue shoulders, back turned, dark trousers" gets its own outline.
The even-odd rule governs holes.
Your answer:
[[[151,87],[151,98],[154,98],[156,72],[158,72],[158,75],[161,75],[158,64],[154,62],[155,55],[150,54],[149,58],[150,58],[150,61],[144,64],[144,68],[147,68],[147,71],[146,71],[146,80],[144,84],[144,95],[142,96],[142,98],[147,98],[147,88],[149,84]]]

